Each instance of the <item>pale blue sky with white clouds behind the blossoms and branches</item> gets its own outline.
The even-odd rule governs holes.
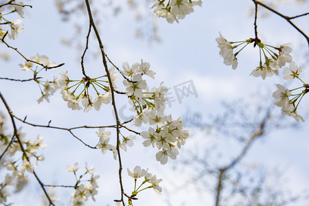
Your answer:
[[[26,18],[23,19],[25,32],[20,34],[16,41],[10,41],[12,46],[18,47],[25,56],[32,56],[34,53],[45,54],[49,56],[49,60],[56,63],[65,62],[64,67],[44,73],[44,76],[46,75],[49,80],[58,76],[60,71],[66,70],[73,78],[82,77],[79,58],[81,54],[76,48],[65,47],[60,43],[60,38],[74,35],[72,25],[60,20],[54,1],[30,1],[30,3],[33,8],[26,9]],[[100,34],[105,51],[113,62],[118,67],[121,67],[122,63],[126,61],[130,65],[141,59],[150,62],[150,69],[157,73],[155,80],[150,83],[152,86],[157,85],[158,87],[161,82],[164,82],[167,87],[173,87],[188,80],[194,82],[198,98],[190,96],[190,98],[184,99],[181,104],[174,102],[167,111],[172,113],[174,118],[183,115],[187,108],[193,112],[201,113],[204,117],[209,113],[220,113],[222,100],[229,102],[238,98],[248,98],[250,93],[258,90],[268,92],[269,98],[271,98],[271,93],[275,91],[274,84],[286,83],[281,76],[273,76],[264,81],[262,78],[249,76],[258,65],[258,51],[256,49],[248,48],[239,54],[239,66],[236,71],[233,71],[230,66],[224,65],[223,59],[218,54],[219,49],[215,38],[219,36],[219,32],[228,41],[242,41],[253,37],[253,16],[249,15],[251,1],[225,1],[224,3],[222,1],[205,1],[203,8],[196,8],[194,13],[186,16],[179,24],[171,25],[164,19],[157,19],[155,21],[159,27],[159,36],[162,41],[151,45],[135,38],[137,24],[133,18],[134,15],[126,3],[116,1],[115,4],[117,3],[123,8],[118,16],[98,15],[100,18],[102,17],[100,19]],[[280,10],[293,15],[308,12],[306,8],[308,8],[308,3],[301,7],[287,4],[282,5]],[[80,19],[78,21],[84,25],[81,36],[85,36],[88,27],[87,21]],[[304,17],[296,22],[304,27],[305,32],[309,33],[308,28],[304,26],[308,25],[308,21],[308,17]],[[292,43],[293,57],[303,67],[304,76],[308,76],[305,65],[306,61],[308,62],[308,45],[299,33],[283,19],[273,14],[265,19],[258,19],[258,30],[260,38],[265,42],[278,46],[283,43]],[[83,43],[85,38],[82,37],[78,40]],[[93,46],[93,52],[97,51],[98,48],[93,39],[91,46]],[[4,45],[1,45],[1,52],[5,49]],[[13,51],[9,52],[12,60],[10,62],[1,60],[1,76],[31,78],[31,74],[27,76],[24,71],[20,71],[18,64],[22,63],[23,59]],[[86,60],[87,71],[91,75],[95,76],[102,72],[100,57],[94,59],[87,56]],[[19,117],[27,115],[29,122],[47,124],[52,119],[54,126],[64,127],[84,124],[102,125],[113,122],[111,106],[106,106],[100,112],[71,111],[63,102],[59,92],[54,94],[49,104],[47,102],[37,104],[36,99],[40,97],[40,92],[34,82],[16,83],[2,80],[0,88],[12,111]],[[117,98],[117,101],[119,101],[118,106],[127,104],[125,98]],[[262,141],[258,141],[246,158],[247,161],[258,161],[270,168],[272,165],[288,167],[289,170],[285,175],[289,182],[285,186],[293,192],[299,192],[309,185],[308,162],[306,161],[309,143],[306,104],[308,104],[308,100],[305,97],[299,109],[299,113],[304,115],[305,119],[307,117],[307,122],[300,123],[303,128],[278,130],[271,133]],[[1,110],[3,110],[2,106]],[[279,108],[277,110],[279,111]],[[59,130],[46,130],[30,126],[23,126],[23,130],[27,133],[26,137],[29,138],[36,138],[38,134],[42,135],[49,145],[44,151],[46,160],[38,165],[38,174],[42,176],[44,182],[71,185],[74,179],[73,175],[67,173],[67,165],[73,165],[75,162],[84,165],[84,162],[87,161],[88,165],[95,165],[95,172],[100,174],[100,194],[97,202],[94,204],[90,201],[89,205],[106,205],[108,203],[112,205],[113,199],[119,197],[116,175],[117,161],[113,159],[111,152],[102,155],[98,150],[84,148],[68,133]],[[115,131],[112,131],[112,134],[115,135]],[[203,134],[200,135],[203,137]],[[98,141],[95,130],[80,130],[78,136],[89,144],[96,144]],[[188,139],[187,148],[194,146],[196,141],[201,141],[201,139],[198,137],[192,137],[192,141]],[[133,148],[122,152],[125,189],[133,187],[131,185],[133,179],[126,175],[126,168],[133,170],[135,165],[140,165],[141,168],[149,168],[149,172],[162,178],[161,185],[163,189],[167,188],[169,193],[165,194],[163,191],[163,194],[159,196],[153,191],[146,191],[145,194],[139,196],[139,201],[135,203],[135,206],[167,205],[168,199],[172,205],[181,205],[182,203],[184,205],[203,205],[205,202],[211,205],[212,194],[207,190],[203,193],[202,198],[192,188],[192,185],[188,186],[190,190],[173,192],[176,190],[175,185],[185,181],[187,176],[172,170],[170,165],[177,164],[177,161],[171,163],[172,161],[169,159],[167,165],[161,165],[155,160],[156,150],[144,148],[141,142],[141,138],[137,138]],[[30,185],[30,188],[39,190],[35,184]],[[61,191],[62,200],[65,201],[66,198],[68,201],[72,191],[67,189],[59,191]],[[37,199],[33,192],[25,193],[21,194],[18,199],[14,199],[16,205],[29,205],[29,203],[24,203],[25,195],[31,201]],[[187,198],[183,193],[190,198]],[[299,203],[300,205],[305,205],[305,203]]]

